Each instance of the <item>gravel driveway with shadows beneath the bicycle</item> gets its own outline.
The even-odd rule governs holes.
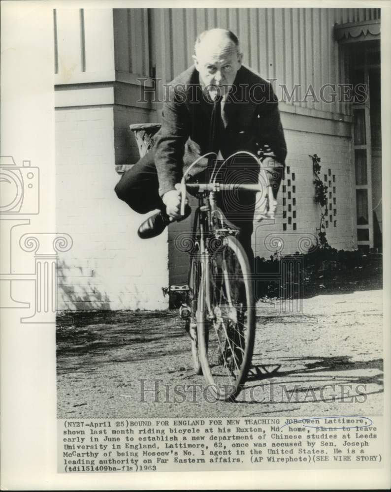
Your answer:
[[[236,403],[205,397],[177,310],[63,313],[58,417],[382,414],[382,290],[356,287],[326,287],[298,315],[259,302],[252,375]]]

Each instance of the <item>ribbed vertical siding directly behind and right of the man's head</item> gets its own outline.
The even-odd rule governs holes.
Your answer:
[[[162,50],[163,80],[172,80],[192,63],[193,40],[213,27],[228,28],[239,37],[244,63],[267,79],[277,79],[291,94],[295,84],[301,98],[314,88],[319,97],[322,85],[338,82],[338,45],[333,39],[335,23],[378,19],[380,9],[359,8],[198,8],[166,9]],[[327,92],[326,92],[327,95]],[[284,102],[293,104],[285,94]],[[347,105],[308,97],[296,105],[330,112],[348,111]]]

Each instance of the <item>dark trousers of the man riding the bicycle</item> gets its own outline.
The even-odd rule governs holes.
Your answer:
[[[217,166],[219,167],[219,166]],[[209,182],[213,167],[204,170],[194,178],[199,183]],[[220,170],[217,181],[220,183],[257,183],[259,167],[248,162],[238,161],[228,163]],[[207,180],[207,181],[204,181]],[[151,154],[142,157],[134,166],[126,171],[115,187],[118,198],[126,202],[132,210],[146,214],[155,209],[165,210],[162,198],[159,196],[159,180]],[[238,239],[246,250],[253,265],[253,250],[251,235],[255,196],[244,191],[232,191],[218,194],[218,206],[227,219],[239,230]]]

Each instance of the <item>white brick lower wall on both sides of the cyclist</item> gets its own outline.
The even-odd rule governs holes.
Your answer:
[[[118,200],[114,192],[119,179],[115,164],[135,162],[138,157],[129,124],[151,121],[155,116],[120,105],[56,111],[57,230],[70,234],[74,242],[59,261],[59,309],[167,307],[161,290],[168,285],[167,233],[154,240],[139,240],[136,230],[143,217]],[[286,174],[282,186],[291,179],[287,191],[294,184],[292,197],[296,202],[284,218],[287,191],[281,187],[276,223],[255,224],[255,255],[268,258],[273,253],[264,243],[271,233],[282,238],[284,254],[300,250],[301,238],[317,237],[321,211],[314,202],[309,154],[321,157],[321,177],[328,169],[335,175],[336,227],[333,220],[326,228],[328,243],[337,249],[352,249],[356,231],[350,139],[296,130],[286,130],[285,134],[290,175]],[[287,204],[292,201],[287,199]],[[189,228],[188,222],[177,224],[178,231]],[[170,237],[172,240],[173,232]],[[173,254],[171,247],[170,269],[173,283],[186,283],[188,256]]]

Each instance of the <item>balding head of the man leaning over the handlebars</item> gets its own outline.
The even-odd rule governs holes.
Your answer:
[[[226,92],[241,67],[238,39],[226,29],[204,31],[195,41],[193,60],[203,85]]]

